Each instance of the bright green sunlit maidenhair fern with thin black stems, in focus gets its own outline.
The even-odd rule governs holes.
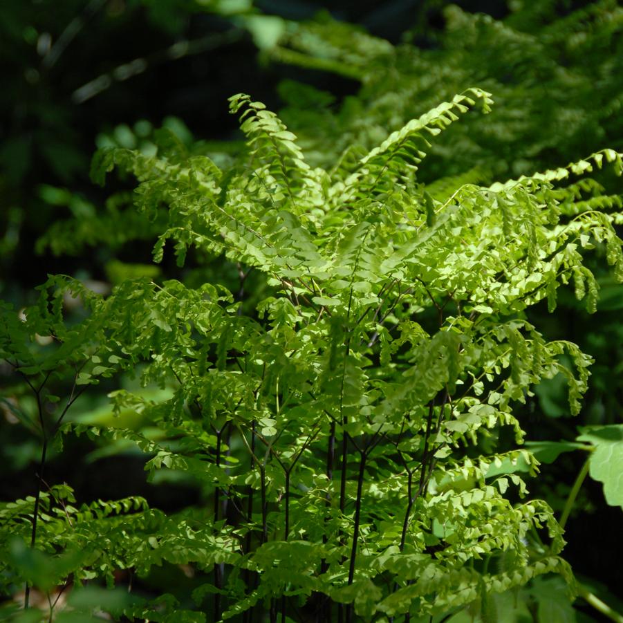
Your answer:
[[[521,447],[513,406],[562,373],[577,413],[591,359],[544,340],[523,310],[543,299],[553,309],[571,282],[594,309],[580,248],[605,245],[623,281],[620,196],[601,196],[584,177],[602,166],[621,174],[622,156],[604,149],[493,185],[476,172],[422,183],[418,164],[436,136],[491,104],[468,89],[326,169],[248,95],[230,99],[248,146],[230,165],[164,138],[155,155],[100,151],[93,178],[134,174],[138,209],[167,220],[156,261],[170,243],[180,266],[190,249],[223,256],[241,279],[260,272],[266,297],[249,307],[242,288],[149,279],[100,297],[50,277],[23,320],[4,307],[2,356],[39,403],[66,405],[50,422],[40,411],[44,439],[60,429],[129,440],[151,474],[195,478],[212,508],[167,516],[140,499],[75,508],[71,492],[41,491],[38,511],[34,501],[0,509],[1,550],[14,547],[10,535],[31,534],[52,556],[79,549],[64,568],[76,582],[192,564],[203,578],[196,608],[166,597],[128,606],[160,620],[250,621],[255,611],[285,622],[303,609],[327,622],[467,607],[490,615],[492,595],[550,572],[573,592],[562,530],[520,475],[537,474],[538,462]],[[66,292],[89,311],[73,326]],[[120,390],[113,407],[141,411],[157,434],[65,422],[77,392],[137,366],[171,398]],[[48,396],[66,375],[71,396]],[[496,445],[502,429],[515,449]],[[37,512],[35,534],[25,520]],[[35,581],[1,559],[3,584]]]

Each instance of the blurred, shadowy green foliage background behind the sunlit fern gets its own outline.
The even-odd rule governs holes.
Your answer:
[[[227,113],[227,97],[240,91],[279,110],[310,162],[322,166],[340,154],[356,157],[468,86],[490,91],[494,112],[454,124],[422,162],[420,179],[434,182],[439,196],[444,178],[491,183],[604,147],[623,151],[622,35],[617,0],[4,0],[0,296],[31,304],[48,272],[102,292],[140,275],[190,286],[210,279],[236,292],[239,267],[222,260],[195,258],[180,269],[165,254],[151,263],[162,223],[133,210],[131,180],[118,180],[112,195],[95,187],[89,162],[96,147],[150,153],[163,136],[226,161],[241,145]],[[595,184],[621,192],[608,174]],[[578,188],[587,210],[594,188]],[[613,197],[600,207],[620,203]],[[579,418],[569,417],[566,386],[556,378],[528,398],[519,415],[530,440],[573,441],[578,426],[622,422],[623,288],[608,277],[604,254],[591,265],[601,286],[595,315],[570,291],[559,293],[554,315],[541,306],[530,311],[546,337],[564,336],[595,357]],[[261,283],[251,274],[245,291],[260,296]],[[79,301],[65,304],[75,317],[84,313]],[[8,374],[0,366],[0,383]],[[121,385],[137,389],[132,378]],[[72,417],[105,422],[112,417],[106,393],[118,387],[85,394]],[[13,386],[2,393],[2,500],[33,486],[39,441],[15,416],[18,407],[34,411],[32,400]],[[149,429],[131,409],[120,417]],[[141,494],[163,510],[201,501],[191,481],[147,485],[144,456],[129,447],[65,443],[50,458],[48,478],[70,483],[83,501]],[[561,511],[583,461],[568,452],[544,463],[532,495]],[[586,481],[567,524],[566,557],[610,602],[623,586],[620,526],[620,508]],[[578,620],[595,620],[578,608]]]

